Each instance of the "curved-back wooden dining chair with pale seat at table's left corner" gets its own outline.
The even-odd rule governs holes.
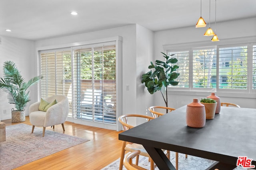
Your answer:
[[[150,116],[146,116],[146,115],[136,115],[136,114],[121,115],[120,117],[118,117],[118,121],[123,125],[125,131],[134,127],[133,125],[129,124],[130,119],[133,119],[133,120],[136,119],[136,120],[140,120],[140,121],[142,120],[144,123],[144,122],[154,119],[154,117],[150,117]],[[150,132],[148,132],[148,133],[150,133]],[[123,141],[123,143],[122,143],[119,170],[122,170],[122,168],[123,168],[123,160],[124,160],[125,152],[126,151],[133,152],[135,150],[140,150],[139,155],[146,156],[149,158],[150,170],[154,170],[154,168],[155,168],[154,161],[152,160],[152,158],[150,158],[148,152],[146,152],[146,149],[144,149],[144,147],[140,144],[128,143],[126,141]],[[167,154],[167,157],[170,159],[170,154]],[[139,156],[136,157],[136,165],[138,165],[138,158],[139,158]]]

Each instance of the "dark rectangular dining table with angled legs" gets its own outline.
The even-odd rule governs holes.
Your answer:
[[[232,170],[238,156],[256,165],[256,109],[221,107],[202,128],[186,125],[186,106],[119,134],[142,144],[160,170],[175,170],[162,149],[215,160],[207,170]],[[248,165],[248,164],[247,164]],[[254,168],[256,169],[256,168]]]

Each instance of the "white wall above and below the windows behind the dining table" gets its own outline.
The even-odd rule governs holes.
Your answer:
[[[209,41],[209,43],[216,44],[216,42],[210,41],[212,37],[203,36],[207,28],[208,26],[206,26],[206,28],[186,27],[186,28],[180,28],[180,29],[172,29],[172,30],[155,32],[154,54],[155,56],[157,56],[155,60],[162,59],[161,58],[162,55],[160,55],[160,52],[164,51],[163,45],[174,45],[174,44],[200,42],[200,41]],[[214,24],[211,25],[211,28],[214,30]],[[220,43],[224,39],[256,36],[256,18],[217,23],[216,34],[220,39],[220,41],[218,41]],[[254,42],[256,42],[256,39]],[[236,95],[236,97],[233,97],[232,94],[229,94],[229,95],[225,94],[222,96],[222,94],[219,95],[218,93],[216,93],[216,95],[221,98],[222,102],[232,102],[232,103],[239,104],[241,107],[256,108],[256,98],[246,98],[246,97],[239,98],[237,97],[239,95]],[[160,92],[159,93],[157,92],[155,96],[156,96],[155,104],[160,106],[165,106],[162,96],[160,95]],[[186,94],[186,93],[168,91],[168,106],[178,108],[191,103],[193,98],[201,99],[206,96],[210,96],[210,92]]]

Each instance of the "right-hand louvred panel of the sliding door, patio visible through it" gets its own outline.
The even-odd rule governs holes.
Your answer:
[[[73,54],[73,117],[116,124],[116,47],[81,47]]]

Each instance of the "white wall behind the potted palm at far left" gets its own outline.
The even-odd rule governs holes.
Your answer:
[[[27,82],[30,78],[37,76],[37,60],[35,57],[34,41],[17,39],[12,37],[1,36],[2,44],[0,45],[0,77],[3,76],[3,64],[5,61],[13,61],[22,76]],[[37,100],[37,86],[30,88],[30,99]],[[32,103],[28,104],[28,106]],[[6,92],[0,90],[0,117],[1,120],[11,119],[11,110],[14,108],[13,104],[9,104]],[[4,114],[4,109],[6,114]],[[14,108],[15,109],[15,108]],[[26,115],[28,115],[28,107],[26,108]]]

